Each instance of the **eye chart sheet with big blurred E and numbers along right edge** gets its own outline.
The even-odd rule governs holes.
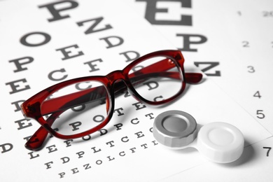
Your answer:
[[[136,0],[130,1],[130,6],[192,59],[260,125],[273,132],[272,1]],[[272,162],[269,158],[272,139],[256,145],[258,151],[265,150],[267,162]],[[261,180],[269,175],[265,164],[263,167],[261,164],[253,167],[251,174],[256,175],[249,180]],[[258,172],[260,167],[262,172]],[[188,171],[193,175],[190,172],[195,169]],[[181,173],[176,177],[186,175]],[[244,176],[244,170],[232,180],[246,180],[245,176],[240,176]]]

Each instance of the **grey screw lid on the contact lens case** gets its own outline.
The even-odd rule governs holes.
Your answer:
[[[165,146],[187,146],[197,136],[197,123],[195,118],[186,112],[165,111],[155,118],[153,136]]]

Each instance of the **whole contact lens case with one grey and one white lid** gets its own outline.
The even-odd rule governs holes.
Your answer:
[[[172,149],[196,148],[212,162],[228,163],[240,158],[244,136],[229,123],[197,125],[195,118],[183,111],[166,111],[155,118],[153,136]]]

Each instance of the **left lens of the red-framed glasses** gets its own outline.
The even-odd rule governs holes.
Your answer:
[[[107,118],[106,103],[109,100],[106,99],[109,96],[102,83],[75,83],[45,99],[41,112],[45,120],[50,116],[56,117],[48,124],[59,134],[78,134],[96,127]],[[55,116],[53,113],[58,114]]]

